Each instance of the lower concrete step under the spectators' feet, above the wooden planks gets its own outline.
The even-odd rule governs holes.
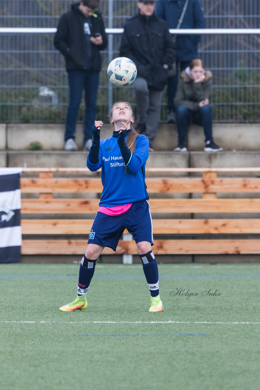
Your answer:
[[[87,152],[65,151],[0,151],[0,167],[84,168]],[[241,168],[260,167],[260,151],[235,152],[150,152],[147,168]],[[149,176],[147,172],[147,176]],[[185,176],[179,172],[174,176]],[[200,176],[201,174],[192,173]],[[163,176],[173,176],[172,173]],[[218,176],[231,176],[219,173]],[[233,172],[232,176],[260,176],[260,172]]]

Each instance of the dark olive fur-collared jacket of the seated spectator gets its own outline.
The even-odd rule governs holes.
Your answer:
[[[212,73],[206,71],[202,83],[195,83],[185,71],[180,74],[178,88],[174,99],[176,107],[184,106],[191,111],[197,111],[200,101],[209,99],[212,87]]]

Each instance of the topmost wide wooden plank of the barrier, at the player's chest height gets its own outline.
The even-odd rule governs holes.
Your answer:
[[[148,193],[260,192],[260,178],[147,178]],[[100,178],[93,179],[21,179],[25,193],[101,193]]]

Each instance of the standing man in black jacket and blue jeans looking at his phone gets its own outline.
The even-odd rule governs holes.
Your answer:
[[[83,89],[85,90],[84,151],[92,145],[92,126],[96,118],[97,89],[101,70],[100,50],[107,46],[107,37],[99,0],[82,0],[61,16],[54,37],[55,47],[64,55],[69,78],[66,151],[78,150],[75,143],[76,122]]]

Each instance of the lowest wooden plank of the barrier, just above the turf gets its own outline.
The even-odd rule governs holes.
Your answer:
[[[23,240],[22,255],[81,255],[86,240]],[[260,254],[260,240],[158,240],[154,254]],[[104,248],[103,254],[115,254]],[[119,241],[116,254],[137,254],[134,241]]]

